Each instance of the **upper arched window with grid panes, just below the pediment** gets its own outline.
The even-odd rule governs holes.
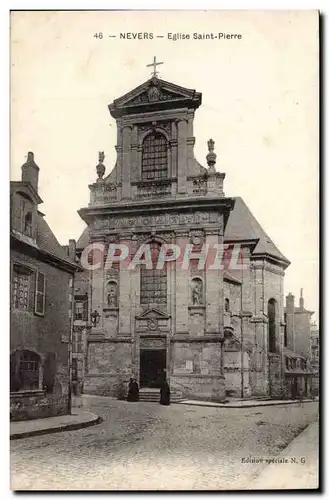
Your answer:
[[[168,144],[163,134],[145,137],[142,149],[142,179],[166,179],[168,176]]]

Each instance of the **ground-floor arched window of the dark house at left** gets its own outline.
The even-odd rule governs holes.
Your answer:
[[[10,358],[10,390],[39,389],[40,356],[32,351],[16,351]]]

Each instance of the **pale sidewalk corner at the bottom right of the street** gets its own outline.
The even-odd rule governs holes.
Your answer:
[[[267,465],[247,490],[316,489],[319,487],[319,422],[309,425]],[[285,462],[285,463],[284,463]]]

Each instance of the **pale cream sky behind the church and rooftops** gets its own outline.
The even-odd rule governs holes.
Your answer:
[[[120,33],[153,39],[120,39]],[[193,39],[193,33],[241,34]],[[102,37],[95,34],[102,33]],[[173,41],[169,33],[189,34]],[[111,37],[109,35],[112,35]],[[157,38],[156,36],[163,36]],[[115,164],[108,104],[150,77],[202,93],[195,156],[241,196],[291,261],[285,294],[318,318],[318,18],[315,11],[25,11],[11,14],[11,179],[27,152],[40,167],[40,210],[61,244],[84,229],[98,151]]]

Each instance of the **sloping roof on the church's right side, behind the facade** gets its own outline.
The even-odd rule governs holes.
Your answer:
[[[253,255],[266,254],[286,264],[289,260],[280,252],[273,240],[265,233],[262,226],[257,222],[242,198],[236,197],[235,205],[231,211],[225,228],[225,241],[248,241],[256,242]]]

